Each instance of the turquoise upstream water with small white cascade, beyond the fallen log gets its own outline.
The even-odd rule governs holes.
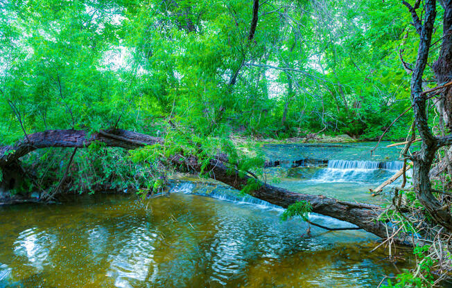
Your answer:
[[[266,145],[263,150],[270,160],[281,161],[281,167],[267,169],[268,181],[294,192],[379,204],[385,199],[372,197],[370,189],[403,167],[403,162],[397,160],[400,150],[387,148],[387,144],[382,142],[374,155],[370,150],[375,143]],[[308,167],[290,168],[294,160],[302,159],[316,159],[318,165],[311,160]],[[325,160],[327,166],[322,166]],[[401,179],[395,181],[385,192],[400,183]]]

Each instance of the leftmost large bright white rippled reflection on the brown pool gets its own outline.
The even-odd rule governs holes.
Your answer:
[[[14,253],[28,259],[28,264],[42,271],[50,251],[55,247],[55,235],[29,228],[22,231],[14,242]]]

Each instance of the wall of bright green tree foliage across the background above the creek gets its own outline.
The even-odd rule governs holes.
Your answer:
[[[418,37],[393,1],[263,3],[252,43],[250,1],[1,5],[3,143],[23,137],[17,116],[28,133],[119,123],[162,135],[167,125],[159,119],[171,118],[184,132],[209,137],[287,138],[326,128],[376,138],[410,106],[399,50],[414,61]],[[405,136],[411,118],[408,112],[386,137]]]

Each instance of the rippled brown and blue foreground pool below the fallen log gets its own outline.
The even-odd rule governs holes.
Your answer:
[[[109,199],[101,202],[108,209],[80,204],[67,219],[73,225],[64,229],[43,221],[44,213],[37,217],[43,208],[9,212],[33,220],[10,230],[0,224],[4,237],[11,235],[0,251],[0,262],[8,265],[0,264],[0,287],[11,281],[19,287],[375,287],[394,271],[381,260],[385,255],[370,253],[372,245],[358,246],[374,236],[316,227],[306,236],[306,224],[281,222],[278,210],[260,203],[181,191],[152,199],[151,212],[134,198]],[[89,223],[83,221],[87,210]],[[53,213],[64,223],[67,207],[56,206]],[[59,249],[63,245],[68,249]]]

